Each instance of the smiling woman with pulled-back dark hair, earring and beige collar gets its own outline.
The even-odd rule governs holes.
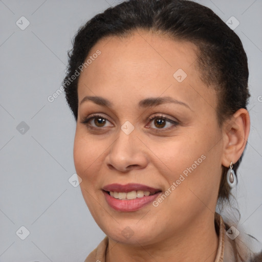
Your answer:
[[[130,0],[81,27],[69,57],[74,163],[106,234],[85,261],[259,259],[215,212],[250,129],[239,37],[197,3]]]

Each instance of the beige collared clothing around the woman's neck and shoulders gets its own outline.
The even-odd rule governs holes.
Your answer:
[[[232,229],[231,230],[229,229],[227,231],[228,233],[226,233],[225,223],[223,221],[222,216],[218,213],[215,213],[215,230],[216,230],[217,235],[219,236],[219,245],[217,248],[216,257],[215,257],[214,262],[235,262],[236,261],[234,252],[232,249],[233,242],[235,242],[236,245],[238,246],[238,250],[245,262],[262,261],[260,260],[260,258],[258,258],[259,260],[252,259],[254,253],[250,251],[250,249],[248,248],[248,245],[245,243],[245,239],[241,237],[241,234],[239,234],[234,239],[234,241],[231,240],[231,238],[233,238],[232,235],[234,235],[235,232],[233,232]],[[228,237],[228,235],[230,235],[231,238]],[[106,236],[100,242],[98,247],[94,249],[89,254],[88,257],[86,257],[84,262],[105,262],[105,254],[106,254],[107,245],[108,245],[108,237]],[[262,255],[262,253],[259,253],[259,255]]]

